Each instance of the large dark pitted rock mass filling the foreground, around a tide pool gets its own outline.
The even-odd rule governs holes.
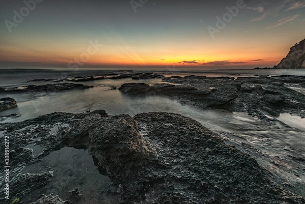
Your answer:
[[[66,201],[56,194],[35,194],[37,189],[47,188],[54,169],[20,173],[22,167],[65,147],[87,149],[99,171],[110,179],[103,196],[113,199],[105,203],[305,202],[268,180],[253,158],[180,114],[152,112],[132,118],[108,116],[104,110],[57,112],[2,124],[0,135],[14,141],[10,143],[10,156],[14,158],[10,197],[19,198],[20,203],[81,203],[78,189],[64,189],[67,194],[78,195]],[[39,146],[42,151],[35,155],[26,148],[28,145]],[[0,165],[4,165],[3,160]],[[3,197],[0,200],[12,203]]]

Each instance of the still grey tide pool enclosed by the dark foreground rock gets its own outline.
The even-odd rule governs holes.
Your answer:
[[[31,192],[23,200],[36,201],[41,194],[59,195],[63,200],[73,200],[69,191],[79,188],[80,198],[76,204],[118,203],[118,199],[107,193],[111,181],[99,173],[88,151],[63,148],[50,153],[41,162],[26,166],[20,173],[41,173],[53,171],[53,177],[46,186]]]

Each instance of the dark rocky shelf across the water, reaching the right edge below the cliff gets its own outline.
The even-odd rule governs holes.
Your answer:
[[[288,112],[305,117],[304,95],[290,89],[301,87],[305,76],[260,77],[168,77],[171,84],[127,83],[119,90],[130,95],[161,95],[182,104],[218,108],[261,116]],[[174,85],[175,84],[175,85]]]

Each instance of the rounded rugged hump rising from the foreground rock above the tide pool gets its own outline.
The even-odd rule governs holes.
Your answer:
[[[148,158],[137,123],[129,115],[104,117],[88,133],[93,154],[102,163],[126,166]]]

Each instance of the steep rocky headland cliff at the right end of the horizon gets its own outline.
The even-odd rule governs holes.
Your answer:
[[[276,69],[305,69],[305,39],[294,44]]]

